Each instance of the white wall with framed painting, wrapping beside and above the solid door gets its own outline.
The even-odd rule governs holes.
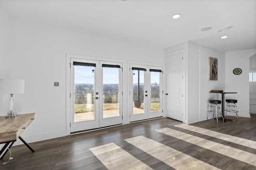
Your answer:
[[[206,120],[208,101],[221,100],[221,94],[211,90],[225,90],[225,53],[190,41],[165,49],[165,54],[186,50],[186,122]],[[218,80],[208,78],[208,59],[218,58]]]

